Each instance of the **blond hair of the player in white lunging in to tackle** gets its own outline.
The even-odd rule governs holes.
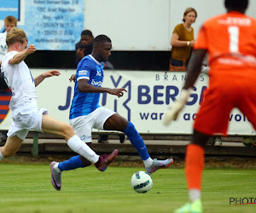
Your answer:
[[[6,43],[8,47],[17,42],[23,44],[26,41],[26,33],[17,27],[13,27],[6,36]]]

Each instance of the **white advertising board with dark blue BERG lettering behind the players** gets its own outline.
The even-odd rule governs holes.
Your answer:
[[[33,77],[47,70],[31,69]],[[45,107],[49,115],[68,124],[69,108],[73,98],[73,84],[69,82],[74,70],[61,70],[61,76],[47,78],[37,87],[38,107]],[[125,88],[121,98],[102,94],[100,105],[118,112],[130,120],[140,133],[191,134],[195,113],[200,106],[201,94],[207,87],[207,75],[201,74],[195,91],[177,121],[166,127],[162,116],[179,95],[186,79],[185,72],[105,71],[103,87]],[[211,121],[209,121],[211,122]],[[0,130],[8,130],[11,113],[3,119]],[[229,135],[254,135],[247,118],[237,109],[230,113]]]

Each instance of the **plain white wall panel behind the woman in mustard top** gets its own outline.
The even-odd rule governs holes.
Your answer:
[[[113,50],[129,51],[171,50],[173,29],[189,7],[197,11],[195,37],[205,20],[226,12],[224,0],[86,0],[84,5],[84,28],[108,35]],[[254,18],[255,8],[256,1],[251,0],[247,14]]]

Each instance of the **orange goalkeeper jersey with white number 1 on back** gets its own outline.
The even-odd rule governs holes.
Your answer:
[[[256,20],[229,12],[207,20],[198,33],[194,49],[207,49],[210,76],[256,69]]]

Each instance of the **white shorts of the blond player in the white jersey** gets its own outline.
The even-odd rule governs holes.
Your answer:
[[[21,140],[25,140],[29,130],[42,131],[43,114],[47,114],[47,110],[42,109],[24,109],[19,112],[12,112],[13,123],[11,124],[7,135],[12,137],[17,135]]]

